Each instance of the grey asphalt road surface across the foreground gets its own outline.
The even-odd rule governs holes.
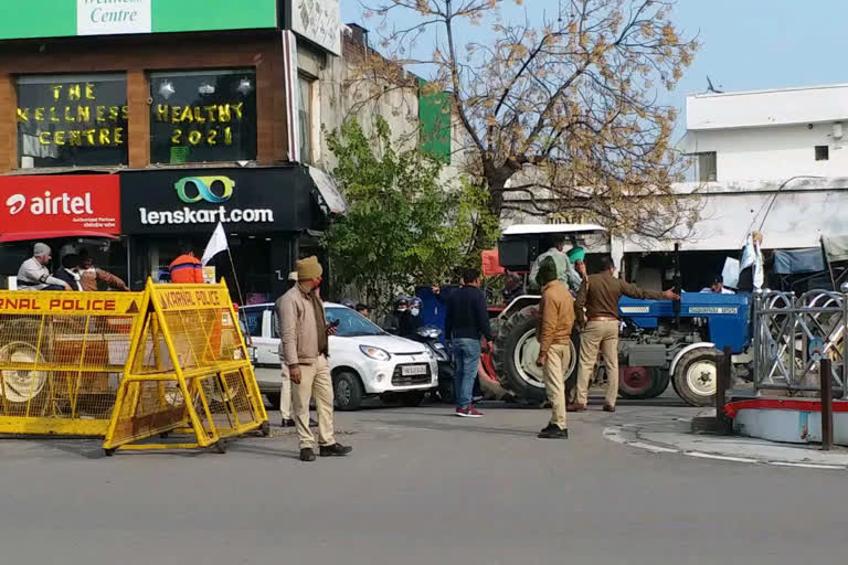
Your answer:
[[[296,459],[295,437],[278,428],[226,455],[104,458],[89,440],[0,440],[2,563],[844,561],[844,471],[603,438],[611,424],[692,415],[674,398],[572,415],[566,441],[534,437],[544,412],[485,412],[339,414],[352,456],[312,463]]]

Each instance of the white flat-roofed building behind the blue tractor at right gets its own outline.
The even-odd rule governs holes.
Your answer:
[[[765,249],[818,247],[822,235],[848,233],[848,85],[698,94],[686,107],[680,149],[692,168],[677,192],[698,199],[700,220],[679,239],[625,241],[632,278],[668,284],[657,274],[669,257],[654,252],[676,243],[689,287],[720,273],[751,231],[764,234]]]

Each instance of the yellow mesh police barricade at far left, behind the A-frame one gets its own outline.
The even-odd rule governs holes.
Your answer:
[[[0,434],[104,436],[146,300],[0,291]]]

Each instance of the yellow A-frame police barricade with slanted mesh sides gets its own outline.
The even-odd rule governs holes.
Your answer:
[[[267,415],[226,285],[155,285],[127,361],[104,448],[218,446]],[[188,429],[187,443],[139,443]]]

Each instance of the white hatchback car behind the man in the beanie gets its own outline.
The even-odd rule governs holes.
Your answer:
[[[338,320],[338,331],[330,337],[330,371],[336,407],[354,411],[365,396],[399,398],[406,406],[417,406],[427,391],[438,386],[438,363],[423,344],[392,335],[356,310],[325,303],[327,321]],[[274,407],[279,407],[280,372],[277,312],[273,303],[241,308],[253,348],[259,391]]]

